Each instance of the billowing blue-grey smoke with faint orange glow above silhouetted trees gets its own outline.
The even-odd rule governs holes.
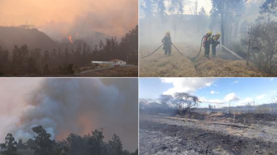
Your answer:
[[[41,79],[35,80],[36,85],[30,82],[32,79],[5,79],[0,83],[7,81],[6,86],[11,87],[2,88],[6,102],[0,106],[10,112],[1,114],[1,120],[6,122],[0,127],[1,140],[8,132],[27,140],[36,125],[42,125],[58,140],[70,133],[84,135],[103,128],[106,139],[115,133],[124,148],[137,148],[136,79]],[[12,94],[15,88],[20,91]]]

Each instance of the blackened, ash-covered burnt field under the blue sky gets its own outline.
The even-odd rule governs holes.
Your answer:
[[[142,113],[140,154],[277,154],[277,115]]]

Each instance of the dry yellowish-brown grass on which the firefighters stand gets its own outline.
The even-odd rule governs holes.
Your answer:
[[[159,45],[156,45],[159,47]],[[140,57],[153,52],[156,46],[140,46]],[[246,61],[237,60],[235,56],[228,52],[221,52],[217,48],[217,57],[211,59],[203,57],[204,50],[195,60],[189,58],[195,57],[199,52],[199,46],[176,44],[176,47],[184,55],[181,56],[174,47],[172,47],[171,56],[164,56],[162,47],[154,54],[140,58],[140,76],[158,76],[158,77],[259,77],[270,76],[260,71],[254,64],[246,65]],[[187,58],[186,56],[189,58]]]

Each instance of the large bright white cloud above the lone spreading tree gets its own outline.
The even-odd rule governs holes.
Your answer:
[[[216,79],[214,78],[195,78],[195,77],[165,77],[161,78],[163,83],[173,84],[173,88],[170,88],[163,94],[173,95],[176,92],[193,93],[198,89],[204,87],[210,87]]]

